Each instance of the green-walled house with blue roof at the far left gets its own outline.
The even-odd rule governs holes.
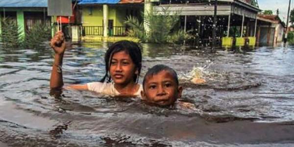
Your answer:
[[[22,36],[34,24],[50,25],[51,21],[51,17],[47,16],[47,0],[0,0],[0,20],[4,18],[14,19]],[[0,23],[0,32],[1,29]]]

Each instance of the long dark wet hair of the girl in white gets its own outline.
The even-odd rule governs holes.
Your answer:
[[[100,82],[110,82],[111,81],[111,76],[109,74],[109,69],[110,69],[110,62],[112,60],[112,57],[115,53],[120,52],[120,51],[125,51],[129,56],[131,57],[133,63],[135,64],[135,68],[138,69],[138,74],[134,75],[134,82],[138,83],[139,80],[139,75],[141,73],[141,68],[142,68],[142,53],[141,49],[138,46],[138,44],[132,42],[132,41],[118,41],[111,45],[108,50],[105,53],[105,75],[104,77],[100,80]]]

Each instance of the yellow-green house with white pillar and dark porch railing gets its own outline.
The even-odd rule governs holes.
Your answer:
[[[141,18],[144,0],[80,0],[82,36],[126,36],[127,16]]]

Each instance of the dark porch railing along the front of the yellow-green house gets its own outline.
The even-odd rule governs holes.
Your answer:
[[[103,26],[82,26],[82,35],[103,36]],[[108,36],[126,36],[125,26],[108,27]]]

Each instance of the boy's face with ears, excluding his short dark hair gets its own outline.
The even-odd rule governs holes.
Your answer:
[[[170,72],[161,71],[147,77],[141,96],[147,102],[167,106],[181,97],[182,90],[182,87],[176,84]]]

